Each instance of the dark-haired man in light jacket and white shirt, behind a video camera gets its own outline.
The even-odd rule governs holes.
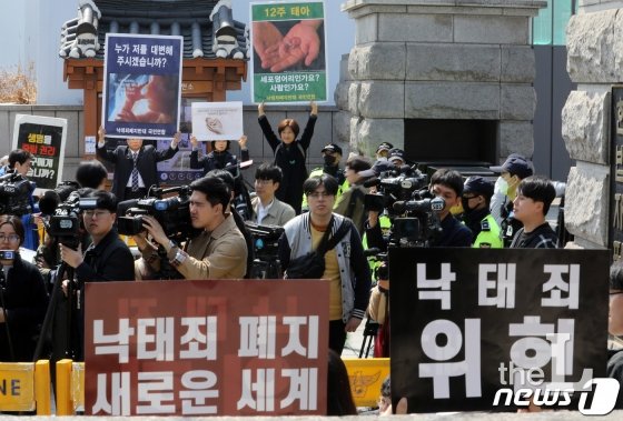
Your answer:
[[[253,222],[260,225],[283,227],[296,213],[293,207],[275,197],[275,191],[281,182],[281,169],[263,163],[255,172],[255,192],[251,204],[254,209]]]

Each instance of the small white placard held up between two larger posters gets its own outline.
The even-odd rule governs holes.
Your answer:
[[[192,134],[197,140],[238,140],[244,133],[243,102],[192,102]]]

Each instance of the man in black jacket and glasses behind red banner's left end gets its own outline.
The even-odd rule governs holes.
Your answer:
[[[82,221],[85,229],[91,235],[92,243],[82,254],[81,247],[73,250],[65,244],[60,244],[61,260],[73,268],[73,283],[66,279],[62,281],[62,289],[66,295],[70,292],[70,287],[76,288],[77,310],[79,317],[75,328],[78,334],[73,341],[75,354],[78,361],[82,361],[82,338],[85,334],[85,282],[109,282],[109,281],[134,281],[135,280],[135,259],[128,245],[119,239],[115,229],[115,218],[117,211],[117,199],[115,194],[107,191],[93,191],[87,196],[96,199],[96,209],[85,210]]]

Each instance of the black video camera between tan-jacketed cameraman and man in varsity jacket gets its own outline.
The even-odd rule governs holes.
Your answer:
[[[245,225],[251,234],[255,253],[250,278],[280,279],[281,267],[277,251],[284,228],[279,225],[259,225],[251,221],[245,221]]]

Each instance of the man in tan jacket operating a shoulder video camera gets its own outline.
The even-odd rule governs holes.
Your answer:
[[[229,212],[230,189],[221,179],[208,176],[192,181],[190,191],[190,222],[200,232],[184,249],[169,240],[151,215],[142,217],[147,232],[186,279],[243,279],[247,272],[247,244]],[[158,271],[156,245],[145,234],[134,238],[142,253],[140,269]]]

